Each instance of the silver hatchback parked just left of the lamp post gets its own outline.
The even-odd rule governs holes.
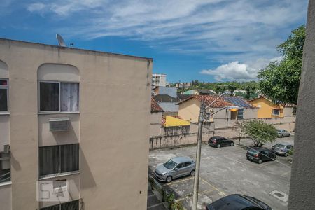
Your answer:
[[[160,181],[171,182],[181,176],[195,176],[195,162],[189,157],[171,158],[156,167],[154,175]]]

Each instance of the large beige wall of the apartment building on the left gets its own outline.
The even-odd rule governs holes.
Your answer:
[[[6,190],[0,187],[1,199],[3,192],[8,198],[0,209],[45,206],[36,201],[38,146],[76,141],[80,174],[62,179],[76,183],[85,209],[145,209],[151,59],[0,39],[0,60],[10,72],[9,120],[0,122],[10,125],[9,131],[1,126],[1,132],[9,132],[12,179]],[[38,115],[37,71],[42,64],[69,64],[80,71],[80,113]],[[48,132],[52,116],[71,119],[68,134]]]

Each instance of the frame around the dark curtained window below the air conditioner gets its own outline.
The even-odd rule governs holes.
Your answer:
[[[62,146],[66,146],[66,145],[78,145],[78,170],[74,170],[74,171],[69,171],[69,172],[62,172],[62,153],[61,153],[61,150],[62,150]],[[50,146],[40,146],[38,147],[38,177],[39,179],[45,179],[45,178],[49,178],[51,176],[63,176],[64,174],[76,174],[78,172],[80,172],[80,144],[79,143],[74,143],[74,144],[58,144],[58,145],[50,145]],[[59,166],[59,172],[57,173],[54,173],[54,174],[43,174],[41,175],[41,159],[39,157],[39,149],[40,148],[45,148],[45,147],[52,147],[52,146],[58,146],[59,148],[59,161],[58,161],[58,166]]]

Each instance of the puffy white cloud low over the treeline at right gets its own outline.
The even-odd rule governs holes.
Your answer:
[[[256,80],[259,70],[264,69],[267,64],[274,61],[280,61],[282,57],[272,59],[257,59],[255,61],[240,63],[238,61],[229,62],[218,66],[216,69],[202,70],[200,73],[214,76],[217,81],[223,80]]]

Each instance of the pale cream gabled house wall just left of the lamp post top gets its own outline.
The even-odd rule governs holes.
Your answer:
[[[197,123],[200,113],[201,102],[197,99],[189,99],[185,103],[179,104],[179,116],[190,123]]]

